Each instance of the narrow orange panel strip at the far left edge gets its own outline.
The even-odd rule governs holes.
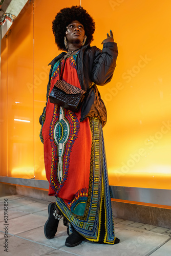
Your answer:
[[[0,87],[0,170],[7,176],[7,72],[8,72],[8,38],[1,40],[1,87]]]

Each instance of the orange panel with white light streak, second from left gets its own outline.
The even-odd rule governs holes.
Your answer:
[[[8,41],[8,176],[34,178],[33,4],[10,28]]]

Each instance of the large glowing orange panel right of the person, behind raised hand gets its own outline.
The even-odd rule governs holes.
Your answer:
[[[112,81],[98,87],[110,184],[171,189],[171,3],[81,2],[96,22],[92,45],[112,29],[119,50]]]

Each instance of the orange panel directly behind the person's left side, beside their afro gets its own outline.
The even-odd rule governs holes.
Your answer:
[[[52,21],[57,12],[65,7],[79,5],[79,1],[47,1],[36,0],[34,2],[34,156],[35,178],[46,180],[44,166],[43,144],[39,138],[39,116],[46,104],[47,84],[49,78],[49,62],[60,52],[55,44],[52,32]],[[53,7],[53,8],[52,8]],[[46,10],[46,15],[45,15]]]

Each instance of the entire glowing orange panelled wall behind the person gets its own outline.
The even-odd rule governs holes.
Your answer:
[[[114,77],[99,88],[108,110],[104,137],[110,185],[170,189],[171,3],[81,0],[81,4],[96,22],[92,45],[101,48],[110,29],[118,43]],[[51,26],[55,14],[72,5],[79,5],[79,0],[27,3],[2,40],[3,176],[46,179],[38,118],[46,103],[48,63],[59,53]]]

